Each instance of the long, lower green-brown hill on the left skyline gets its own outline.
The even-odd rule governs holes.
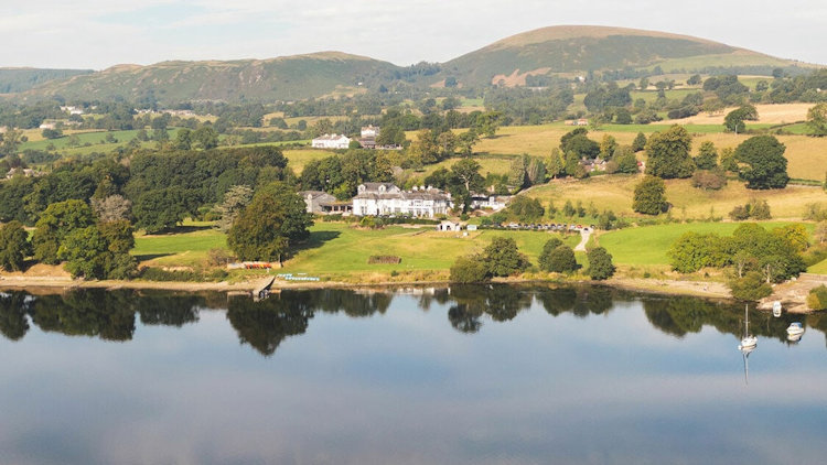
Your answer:
[[[401,68],[364,56],[322,52],[270,60],[232,62],[162,62],[149,66],[118,65],[98,73],[50,82],[31,97],[60,95],[71,99],[140,100],[294,100],[331,94],[354,94],[389,82]]]

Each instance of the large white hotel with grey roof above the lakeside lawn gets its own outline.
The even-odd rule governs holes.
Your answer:
[[[353,197],[353,214],[410,215],[432,218],[444,215],[451,207],[451,195],[433,187],[402,191],[390,183],[364,183]]]

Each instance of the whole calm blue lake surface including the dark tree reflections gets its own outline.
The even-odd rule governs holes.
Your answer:
[[[827,315],[604,288],[0,294],[0,464],[799,463]],[[802,321],[797,344],[785,328]]]

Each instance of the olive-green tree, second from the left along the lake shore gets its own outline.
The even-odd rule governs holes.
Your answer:
[[[34,225],[34,258],[47,264],[57,263],[57,250],[64,238],[73,230],[92,226],[94,223],[92,208],[83,201],[73,199],[49,205]]]

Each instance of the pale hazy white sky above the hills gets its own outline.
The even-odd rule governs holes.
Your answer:
[[[674,32],[827,64],[824,0],[2,0],[0,66],[101,69],[327,50],[409,65],[560,24]]]

